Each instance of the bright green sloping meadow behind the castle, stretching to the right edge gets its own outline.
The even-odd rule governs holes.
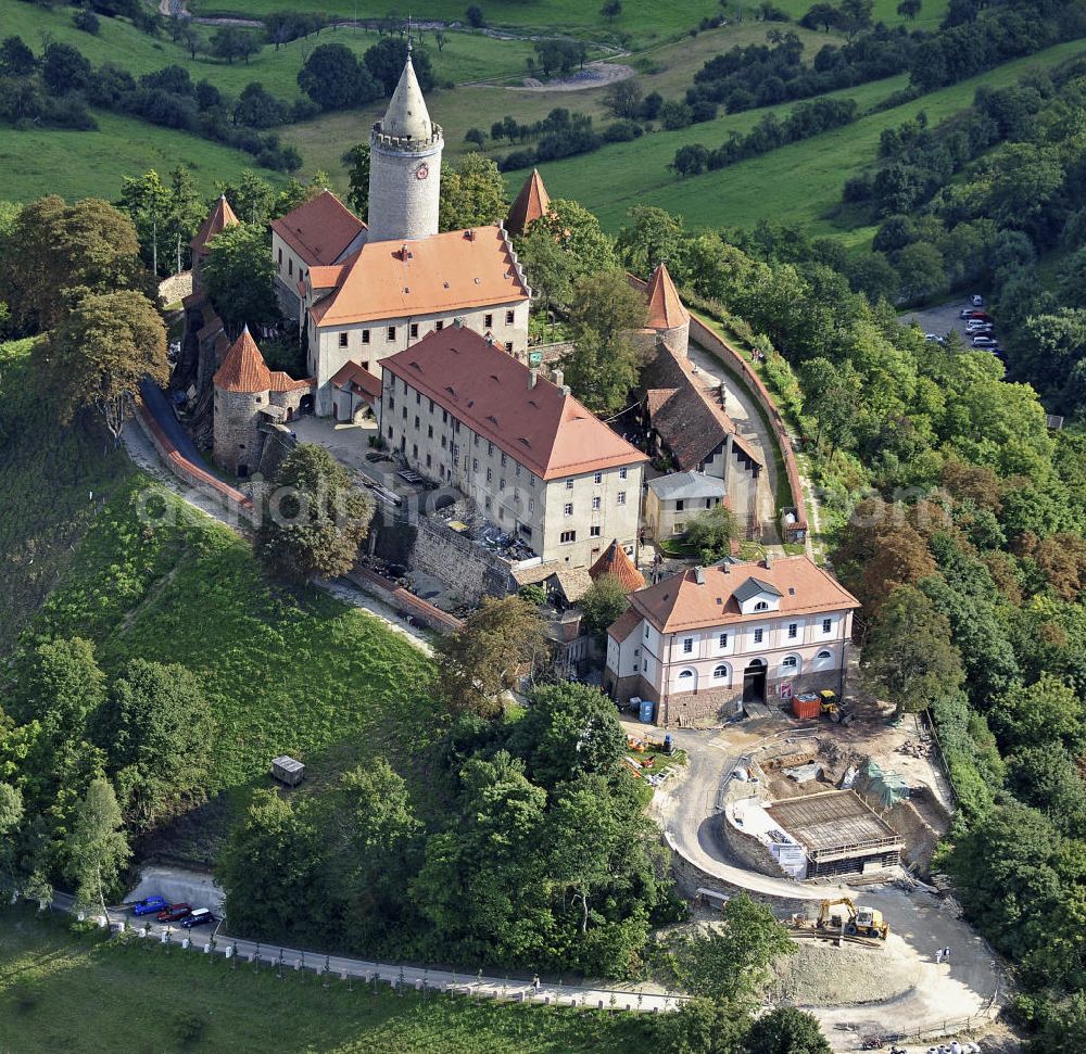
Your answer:
[[[691,179],[680,180],[665,167],[680,145],[702,142],[716,147],[729,131],[744,130],[765,111],[605,147],[582,157],[548,164],[543,177],[552,196],[577,199],[611,229],[621,226],[632,205],[654,204],[682,213],[695,227],[744,227],[765,218],[804,224],[812,233],[839,233],[828,214],[839,203],[845,179],[875,160],[879,135],[884,128],[897,126],[921,110],[936,124],[970,105],[981,85],[1003,87],[1031,68],[1055,66],[1084,51],[1083,41],[1057,45],[844,128]],[[902,75],[834,94],[856,99],[867,107],[906,84]],[[510,173],[509,187],[519,188],[525,176],[523,172]],[[851,239],[863,237],[863,232],[854,233]]]

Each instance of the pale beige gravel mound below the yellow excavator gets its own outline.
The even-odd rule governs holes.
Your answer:
[[[920,965],[902,962],[889,949],[811,940],[797,942],[795,954],[776,961],[768,990],[803,1006],[880,1003],[908,991],[919,978]]]

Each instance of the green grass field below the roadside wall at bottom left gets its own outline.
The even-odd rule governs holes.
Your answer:
[[[0,1050],[20,1054],[274,1049],[279,1054],[619,1054],[653,1019],[393,994],[0,914]],[[274,1039],[273,1039],[274,1038]]]

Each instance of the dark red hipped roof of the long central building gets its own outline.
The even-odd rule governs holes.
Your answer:
[[[381,367],[543,480],[647,460],[556,384],[530,386],[523,363],[472,330],[428,333]]]

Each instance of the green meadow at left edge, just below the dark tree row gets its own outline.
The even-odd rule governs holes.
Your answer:
[[[41,10],[41,9],[35,9]],[[172,128],[157,128],[136,117],[96,113],[98,131],[61,128],[14,130],[0,125],[0,198],[30,201],[60,194],[68,201],[97,196],[115,201],[124,176],[154,168],[160,175],[177,165],[192,169],[200,191],[207,198],[216,183],[229,182],[252,168],[273,182],[280,173],[257,167],[240,150]]]

